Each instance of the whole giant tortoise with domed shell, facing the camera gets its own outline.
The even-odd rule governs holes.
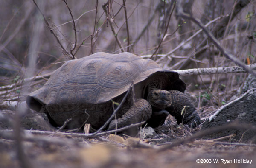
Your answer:
[[[156,127],[163,124],[169,114],[177,123],[193,128],[200,123],[195,106],[183,94],[186,84],[178,73],[164,70],[151,59],[132,53],[99,52],[67,61],[52,73],[42,88],[27,96],[26,103],[37,112],[46,113],[54,126],[61,126],[72,118],[67,125],[70,129],[84,123],[99,129],[132,82],[134,92],[128,93],[116,113],[116,120],[106,129],[141,121]]]

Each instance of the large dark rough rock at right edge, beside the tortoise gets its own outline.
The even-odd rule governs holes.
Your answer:
[[[224,106],[223,109],[216,115],[211,121],[207,121],[203,124],[203,129],[213,128],[215,126],[221,126],[231,122],[247,123],[256,126],[256,89],[248,90],[244,95],[235,101]],[[238,130],[230,129],[222,132],[209,134],[204,138],[219,138],[230,134],[236,134],[232,137],[235,141],[247,142],[253,140],[256,135],[255,131],[250,130]],[[232,141],[234,141],[232,140]]]

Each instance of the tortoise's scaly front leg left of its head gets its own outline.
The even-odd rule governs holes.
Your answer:
[[[112,120],[108,126],[108,130],[119,129],[133,123],[146,121],[151,117],[151,105],[145,99],[137,99],[133,106],[117,120]]]

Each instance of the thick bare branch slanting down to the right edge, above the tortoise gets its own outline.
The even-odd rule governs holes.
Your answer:
[[[220,44],[220,42],[215,38],[215,36],[212,35],[212,33],[206,28],[204,27],[204,25],[201,23],[201,21],[198,18],[193,17],[191,14],[186,14],[182,11],[181,7],[178,7],[178,16],[183,17],[185,19],[189,19],[192,20],[193,22],[195,22],[201,29],[203,29],[203,31],[205,32],[205,34],[207,34],[207,36],[212,40],[213,44],[220,50],[220,52],[227,58],[230,59],[231,61],[233,61],[234,63],[236,63],[237,65],[239,65],[240,67],[243,67],[247,72],[253,74],[254,76],[256,76],[256,73],[249,67],[247,67],[243,62],[241,62],[239,59],[233,57],[231,54],[227,53],[227,51],[225,50],[225,48],[223,48]]]

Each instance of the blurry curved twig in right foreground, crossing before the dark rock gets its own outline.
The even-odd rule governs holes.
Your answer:
[[[192,141],[194,141],[198,138],[204,137],[208,134],[217,133],[217,132],[227,130],[227,129],[250,129],[250,130],[256,131],[256,127],[251,125],[251,124],[245,124],[245,123],[244,124],[240,124],[240,123],[237,124],[236,122],[233,122],[233,123],[230,123],[230,124],[216,126],[216,127],[212,127],[212,128],[209,128],[209,129],[205,129],[201,132],[197,132],[194,135],[192,135],[191,137],[185,138],[183,140],[178,140],[178,141],[176,141],[176,142],[174,142],[170,145],[166,145],[166,146],[161,147],[158,150],[158,152],[166,151],[166,150],[171,149],[175,146],[179,146],[179,145],[183,145],[183,144],[192,142]]]

